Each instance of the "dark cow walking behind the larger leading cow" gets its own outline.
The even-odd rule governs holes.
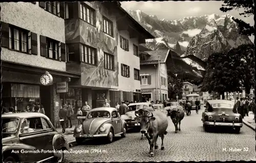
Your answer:
[[[178,132],[178,123],[179,123],[179,131],[180,131],[180,123],[181,120],[184,118],[185,113],[183,108],[173,108],[170,112],[170,119],[172,119],[174,126],[175,126],[175,133]]]

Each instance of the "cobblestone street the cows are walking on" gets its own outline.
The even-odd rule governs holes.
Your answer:
[[[201,111],[192,111],[181,123],[181,131],[174,133],[174,125],[168,118],[168,133],[165,135],[165,150],[155,151],[155,157],[148,157],[147,140],[140,140],[140,133],[127,133],[126,138],[118,138],[112,144],[100,144],[99,141],[86,142],[74,146],[74,151],[101,149],[105,153],[67,153],[65,162],[97,162],[97,161],[229,161],[255,160],[255,133],[243,126],[240,134],[232,132],[205,132],[202,127]],[[158,139],[161,145],[161,139]],[[223,152],[223,148],[241,148],[240,152]],[[248,151],[243,151],[243,149]]]

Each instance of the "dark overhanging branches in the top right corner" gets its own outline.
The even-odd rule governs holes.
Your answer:
[[[239,10],[241,8],[244,9],[243,12],[240,12],[239,15],[243,15],[244,17],[249,17],[254,14],[254,1],[251,0],[225,0],[223,1],[224,5],[220,8],[223,12],[228,12],[231,10]],[[238,23],[240,28],[240,34],[247,36],[255,36],[254,27],[250,24],[244,22],[241,19],[232,18],[235,22]]]

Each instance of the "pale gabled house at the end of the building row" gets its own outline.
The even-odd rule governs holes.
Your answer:
[[[166,60],[168,57],[168,49],[140,52],[140,80],[143,101],[167,100]]]

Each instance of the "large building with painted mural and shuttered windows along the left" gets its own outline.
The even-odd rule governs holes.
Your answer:
[[[137,98],[140,82],[133,74],[140,73],[140,67],[135,47],[154,37],[120,3],[18,2],[1,3],[1,8],[7,107],[24,111],[32,101],[40,102],[58,127],[58,111],[65,101],[76,113],[84,101],[95,108],[104,99],[114,106]],[[120,47],[121,37],[129,40],[128,51],[127,44]],[[122,75],[121,64],[130,66],[130,77]],[[40,84],[46,71],[53,76],[50,86]],[[60,92],[62,83],[68,88]],[[76,122],[75,115],[73,119]]]

